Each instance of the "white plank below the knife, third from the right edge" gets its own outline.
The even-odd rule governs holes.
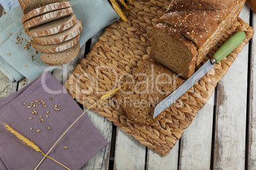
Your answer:
[[[181,137],[180,169],[210,169],[214,95]]]

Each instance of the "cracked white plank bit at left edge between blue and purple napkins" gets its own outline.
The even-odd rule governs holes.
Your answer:
[[[11,82],[3,72],[0,72],[0,100],[15,93],[17,82]]]

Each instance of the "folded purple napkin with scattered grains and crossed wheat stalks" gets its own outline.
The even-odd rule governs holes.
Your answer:
[[[40,105],[33,103],[38,106],[28,108],[31,102],[36,100]],[[45,101],[46,107],[43,107],[41,100]],[[55,105],[60,105],[57,106],[59,111],[53,109]],[[31,113],[33,109],[38,112],[37,115]],[[49,114],[46,114],[46,111],[49,111]],[[75,100],[49,72],[20,91],[0,100],[0,122],[16,129],[45,154],[82,113],[83,110]],[[38,122],[40,115],[43,116],[44,122]],[[32,120],[29,120],[29,117],[32,117]],[[51,129],[49,130],[48,127]],[[37,133],[37,129],[41,132]],[[34,169],[43,155],[20,142],[2,124],[0,131],[0,169]],[[70,169],[79,169],[106,145],[103,136],[85,114],[69,129],[49,156]],[[64,169],[64,167],[46,158],[39,169]]]

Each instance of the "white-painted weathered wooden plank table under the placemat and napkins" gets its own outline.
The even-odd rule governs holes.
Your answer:
[[[0,13],[2,11],[0,6]],[[256,26],[256,14],[248,6],[243,8],[240,17],[252,27]],[[75,61],[60,66],[52,74],[65,82],[102,33],[103,30],[82,47]],[[82,169],[256,169],[255,55],[256,39],[253,38],[166,157],[141,145],[112,122],[90,111],[90,120],[108,141],[108,146]],[[0,72],[0,99],[28,83],[27,79],[10,82]]]

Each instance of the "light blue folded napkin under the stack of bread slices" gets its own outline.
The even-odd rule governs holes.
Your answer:
[[[80,46],[83,46],[99,30],[119,18],[107,0],[70,0],[69,2],[73,5],[76,18],[82,21]],[[29,41],[31,37],[23,32],[22,16],[22,10],[18,6],[0,18],[0,70],[11,81],[19,81],[23,77],[32,81],[43,72],[55,69],[55,67],[50,67],[42,62],[41,53],[34,54],[34,48],[24,49],[25,42]],[[26,39],[22,45],[15,44],[16,37],[20,32],[22,33],[20,37]],[[34,56],[34,61],[31,60],[31,55]]]

